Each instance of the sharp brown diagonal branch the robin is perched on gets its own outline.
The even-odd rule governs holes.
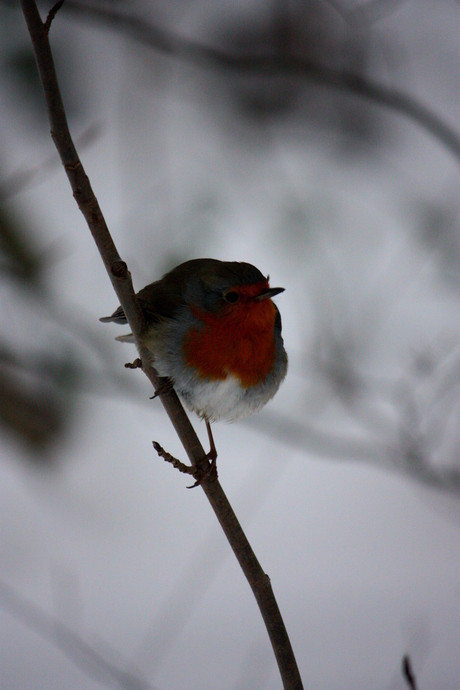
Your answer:
[[[45,93],[51,136],[66,170],[75,200],[88,223],[114,290],[127,316],[143,362],[143,370],[157,390],[160,383],[158,375],[149,365],[145,349],[140,347],[139,336],[144,325],[144,316],[134,294],[130,273],[117,252],[70,136],[48,42],[48,32],[40,18],[35,0],[21,0],[21,6]],[[206,469],[208,466],[206,454],[176,393],[173,390],[166,390],[160,393],[160,397],[191,463]],[[289,690],[301,690],[303,686],[297,662],[273,595],[270,579],[262,570],[219,482],[205,478],[201,486],[257,600],[278,662],[283,686]]]

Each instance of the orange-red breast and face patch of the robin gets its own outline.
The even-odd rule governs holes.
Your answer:
[[[192,329],[184,339],[187,364],[214,381],[237,376],[244,388],[265,380],[276,351],[276,310],[270,299],[256,301],[242,294],[237,304],[219,312],[192,311],[204,327]]]

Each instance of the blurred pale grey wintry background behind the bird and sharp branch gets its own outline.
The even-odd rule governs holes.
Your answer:
[[[42,3],[44,18],[52,3]],[[136,289],[248,261],[288,377],[214,425],[305,687],[460,686],[460,4],[66,0],[69,123]],[[274,690],[249,587],[131,346],[0,2],[3,690]],[[205,429],[193,423],[205,441]]]

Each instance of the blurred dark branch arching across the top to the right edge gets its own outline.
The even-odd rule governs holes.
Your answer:
[[[262,74],[290,74],[311,79],[316,84],[344,91],[385,106],[410,118],[438,139],[460,160],[460,134],[449,127],[438,115],[403,91],[378,84],[360,74],[320,65],[294,55],[244,56],[206,46],[173,34],[165,29],[112,8],[69,0],[64,8],[75,16],[103,22],[130,35],[132,38],[172,57],[197,63],[214,65],[235,72]]]

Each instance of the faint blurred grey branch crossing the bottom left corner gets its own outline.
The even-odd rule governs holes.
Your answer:
[[[79,635],[21,597],[12,587],[0,581],[0,604],[17,621],[60,649],[86,675],[99,683],[122,690],[149,690],[152,686],[115,664],[106,661]]]

